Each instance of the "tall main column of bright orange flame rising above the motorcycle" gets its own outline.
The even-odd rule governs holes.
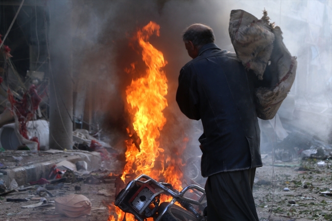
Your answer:
[[[132,80],[127,87],[126,95],[129,104],[129,113],[133,116],[133,127],[140,138],[140,152],[135,145],[127,141],[127,164],[123,171],[122,179],[126,174],[148,174],[157,179],[162,173],[163,162],[159,171],[154,170],[155,161],[163,149],[159,148],[159,130],[166,123],[162,110],[168,106],[165,95],[167,94],[167,78],[161,69],[167,64],[163,55],[152,44],[149,37],[152,34],[159,36],[159,25],[150,21],[147,26],[137,32],[139,46],[143,49],[142,58],[146,66],[146,75]],[[134,65],[131,65],[134,68]]]

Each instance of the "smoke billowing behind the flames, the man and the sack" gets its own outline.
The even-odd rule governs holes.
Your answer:
[[[164,70],[169,81],[169,107],[164,110],[168,122],[161,131],[161,145],[177,146],[183,142],[183,137],[188,137],[189,151],[184,158],[200,155],[197,141],[202,133],[200,121],[187,119],[175,102],[179,70],[191,60],[181,34],[190,24],[204,23],[214,29],[219,47],[233,51],[228,35],[230,11],[243,9],[260,18],[265,8],[271,21],[281,27],[284,43],[291,54],[298,56],[297,78],[290,92],[295,108],[289,113],[290,118],[304,124],[304,128],[311,128],[313,135],[328,141],[331,121],[320,120],[319,125],[313,124],[300,111],[305,109],[316,113],[327,108],[323,114],[331,114],[332,107],[331,100],[327,99],[331,97],[331,91],[326,86],[332,69],[328,62],[332,60],[331,46],[326,46],[331,42],[330,37],[326,37],[331,36],[331,9],[319,3],[323,7],[321,24],[319,19],[318,24],[309,24],[303,18],[311,15],[309,2],[318,1],[74,1],[73,78],[75,82],[92,82],[94,90],[88,95],[96,101],[97,118],[108,129],[112,145],[124,148],[121,145],[129,124],[124,92],[131,80],[138,77],[124,70],[133,62],[136,62],[136,68],[145,69],[139,48],[131,38],[138,28],[150,20],[155,21],[161,27],[160,37],[151,37],[150,42],[168,61]],[[308,33],[312,33],[310,38]],[[320,41],[324,36],[326,45]]]

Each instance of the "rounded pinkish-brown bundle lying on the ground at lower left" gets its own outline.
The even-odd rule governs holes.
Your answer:
[[[91,202],[81,194],[70,194],[66,197],[56,198],[55,212],[67,217],[79,217],[91,214]]]

